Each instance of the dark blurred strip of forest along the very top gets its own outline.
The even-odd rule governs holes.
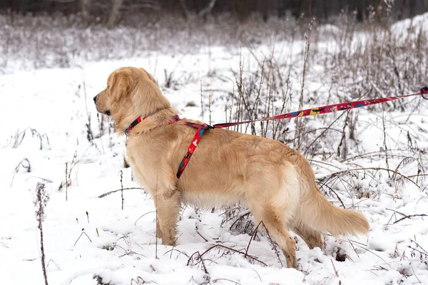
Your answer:
[[[86,24],[100,23],[133,26],[141,16],[156,19],[168,14],[206,21],[229,15],[240,22],[258,14],[263,21],[271,17],[301,19],[315,17],[332,22],[339,14],[352,14],[365,21],[371,14],[379,21],[385,17],[397,21],[428,11],[428,0],[3,0],[3,14],[81,15]]]

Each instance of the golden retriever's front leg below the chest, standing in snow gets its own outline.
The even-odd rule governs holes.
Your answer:
[[[162,237],[162,244],[175,244],[175,224],[178,219],[180,209],[180,195],[178,191],[156,195],[156,211],[158,214],[156,237]]]

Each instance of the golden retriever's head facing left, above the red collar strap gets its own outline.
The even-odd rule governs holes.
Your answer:
[[[93,98],[99,113],[111,116],[123,133],[138,116],[170,107],[156,81],[143,68],[123,67],[108,76],[107,88]]]

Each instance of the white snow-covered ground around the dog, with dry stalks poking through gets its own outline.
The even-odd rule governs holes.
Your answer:
[[[292,46],[275,43],[276,62],[290,58],[290,53],[295,60],[290,73],[293,100],[287,111],[297,110],[304,46],[303,41]],[[320,39],[317,48],[331,46],[328,39]],[[207,46],[185,55],[147,51],[120,61],[82,62],[74,68],[16,68],[3,74],[0,284],[44,284],[34,207],[37,182],[46,184],[50,197],[43,222],[49,284],[428,284],[428,217],[424,217],[428,214],[428,101],[420,97],[402,100],[404,111],[382,106],[352,110],[359,116],[356,139],[346,138],[346,160],[320,154],[323,146],[327,152],[337,149],[343,123],[334,127],[339,133],[320,137],[318,154],[308,158],[320,183],[328,186],[323,188],[327,198],[339,207],[363,212],[371,230],[368,237],[326,236],[325,249],[310,250],[297,237],[300,270],[282,266],[284,257],[280,254],[278,259],[263,232],[250,243],[248,254],[254,258],[230,250],[245,252],[250,242],[249,234],[230,229],[245,210],[226,220],[223,209],[185,208],[178,222],[177,246],[165,247],[156,241],[153,200],[143,190],[124,190],[123,209],[120,191],[99,197],[121,189],[121,175],[124,188],[139,187],[131,179],[131,168],[124,165],[125,138],[108,132],[106,118],[97,118],[93,105],[93,96],[105,88],[111,71],[121,66],[146,68],[180,116],[207,123],[211,93],[212,123],[222,123],[228,117],[225,105],[230,107],[230,93],[237,92],[233,71],[239,71],[240,57],[247,74],[259,68],[255,58],[270,56],[272,50],[265,45]],[[327,100],[339,103],[339,91],[337,98],[330,98],[329,72],[324,63],[310,63],[304,108],[325,105]],[[165,73],[170,74],[169,88]],[[320,134],[338,116],[303,120],[306,130],[320,129]],[[101,121],[104,131],[99,136]],[[293,125],[294,120],[290,128]],[[387,151],[382,149],[384,141]],[[349,169],[345,175],[332,175]],[[414,214],[419,216],[407,217]],[[224,247],[204,254],[215,244]]]

